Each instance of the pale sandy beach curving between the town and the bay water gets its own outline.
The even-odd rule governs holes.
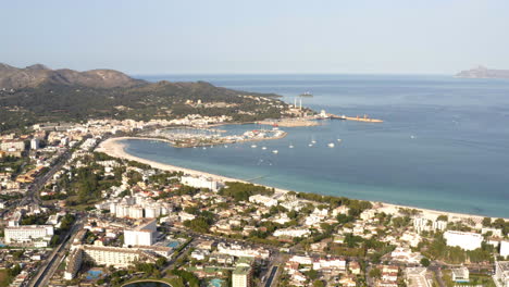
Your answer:
[[[207,172],[201,172],[197,170],[191,170],[191,169],[186,169],[182,166],[176,166],[176,165],[171,165],[166,163],[160,163],[157,161],[152,160],[147,160],[142,158],[138,158],[136,155],[132,155],[125,151],[125,145],[119,142],[121,140],[126,140],[126,139],[145,139],[145,140],[159,140],[159,141],[165,141],[165,139],[161,138],[148,138],[148,137],[116,137],[116,138],[109,138],[104,141],[101,141],[99,146],[95,149],[95,151],[98,152],[104,152],[110,157],[113,158],[119,158],[119,159],[124,159],[124,160],[131,160],[131,161],[137,161],[144,164],[148,164],[152,166],[153,169],[162,170],[162,171],[169,171],[169,172],[184,172],[186,174],[190,175],[197,175],[197,176],[206,176],[213,178],[214,180],[220,180],[220,182],[240,182],[240,183],[247,183],[247,184],[254,184],[250,183],[244,179],[238,179],[238,178],[233,178],[233,177],[227,177],[227,176],[222,176],[218,174],[211,174]],[[259,184],[254,184],[259,185]],[[288,189],[283,189],[283,188],[276,188],[272,186],[266,186],[262,185],[269,188],[274,188],[276,192],[278,192],[281,196],[284,194],[289,192],[290,190]],[[307,191],[296,191],[296,192],[306,192],[306,194],[312,194],[312,192],[307,192]],[[334,196],[333,196],[334,197]],[[410,207],[410,205],[401,205],[401,204],[394,204],[394,203],[388,203],[388,202],[381,202],[381,201],[372,201],[372,200],[365,200],[369,201],[373,204],[373,208],[376,209],[378,212],[385,212],[389,214],[397,213],[399,209],[412,209],[412,210],[418,210],[421,212],[421,216],[426,217],[426,219],[436,219],[439,215],[447,215],[449,221],[461,221],[461,220],[473,220],[475,223],[480,223],[484,217],[491,217],[491,219],[504,219],[508,221],[509,219],[506,217],[495,217],[495,216],[485,216],[485,215],[479,215],[479,214],[468,214],[468,213],[458,213],[458,212],[450,212],[450,211],[439,211],[439,210],[432,210],[432,209],[425,209],[425,208],[418,208],[418,207]]]

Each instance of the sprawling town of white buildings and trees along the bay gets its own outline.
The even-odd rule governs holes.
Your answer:
[[[227,121],[90,120],[1,135],[0,286],[509,286],[505,219],[163,171],[98,149]]]

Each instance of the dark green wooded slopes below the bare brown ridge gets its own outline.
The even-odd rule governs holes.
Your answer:
[[[76,122],[87,118],[119,120],[176,118],[187,114],[231,115],[234,121],[257,121],[281,117],[281,109],[239,95],[275,98],[273,93],[236,91],[209,83],[142,84],[125,88],[94,88],[44,83],[34,88],[0,91],[0,129],[24,128],[47,121]],[[189,105],[187,100],[203,104]],[[208,102],[226,102],[225,108],[207,108]],[[282,101],[277,105],[286,107]],[[239,113],[243,111],[244,113]]]

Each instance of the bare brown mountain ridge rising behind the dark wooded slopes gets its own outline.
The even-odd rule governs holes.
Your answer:
[[[77,72],[69,68],[51,70],[41,64],[18,68],[0,63],[0,89],[21,89],[41,84],[114,88],[133,87],[144,83],[113,70]]]

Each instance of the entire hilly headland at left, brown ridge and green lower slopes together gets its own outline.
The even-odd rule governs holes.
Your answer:
[[[149,83],[112,70],[76,72],[40,64],[25,68],[0,64],[0,132],[40,122],[172,120],[188,114],[253,122],[281,117],[288,105],[277,97],[206,82]]]

